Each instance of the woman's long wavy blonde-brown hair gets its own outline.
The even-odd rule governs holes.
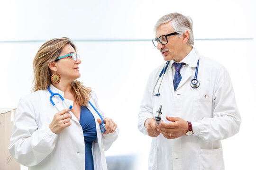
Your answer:
[[[46,90],[51,84],[52,73],[48,64],[59,57],[63,47],[67,44],[71,45],[76,51],[73,42],[66,37],[49,40],[39,48],[33,61],[34,86],[32,91]],[[82,82],[75,80],[71,83],[70,89],[77,104],[85,106],[89,102],[91,98],[90,93],[92,92],[91,88],[85,87],[82,85]]]

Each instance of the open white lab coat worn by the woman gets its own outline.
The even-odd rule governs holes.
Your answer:
[[[50,89],[53,93],[64,96],[64,93],[53,85],[50,85]],[[58,96],[55,95],[53,101],[59,110],[66,108]],[[68,105],[73,105],[73,101],[65,101]],[[104,116],[94,93],[91,93],[90,101]],[[104,150],[109,149],[117,139],[118,128],[114,133],[103,135],[97,122],[100,117],[89,103],[86,106],[94,116],[97,130],[97,139],[92,143],[94,170],[107,170]],[[14,119],[9,152],[19,163],[28,166],[29,170],[84,170],[82,127],[71,112],[72,125],[56,135],[48,127],[56,113],[48,90],[39,90],[22,97]]]

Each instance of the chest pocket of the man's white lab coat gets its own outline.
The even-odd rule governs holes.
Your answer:
[[[193,117],[196,121],[205,117],[212,118],[212,97],[195,97],[193,101]]]

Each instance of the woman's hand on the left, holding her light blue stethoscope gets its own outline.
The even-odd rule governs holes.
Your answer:
[[[54,115],[52,122],[49,124],[49,128],[53,133],[59,134],[65,127],[69,127],[71,125],[70,119],[72,116],[67,113],[68,110],[69,109],[61,110]]]

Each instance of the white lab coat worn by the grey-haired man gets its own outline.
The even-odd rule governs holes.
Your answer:
[[[193,89],[190,84],[199,58],[200,86]],[[196,49],[183,62],[188,67],[175,92],[171,62],[160,96],[153,96],[152,91],[163,65],[151,73],[141,102],[138,128],[147,135],[145,120],[152,118],[162,105],[164,122],[169,123],[165,116],[191,121],[194,134],[176,139],[166,139],[162,134],[153,137],[148,170],[224,170],[220,140],[238,133],[241,123],[229,74],[219,63],[200,56]],[[159,83],[154,94],[158,87]]]

